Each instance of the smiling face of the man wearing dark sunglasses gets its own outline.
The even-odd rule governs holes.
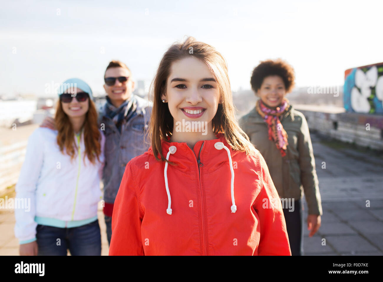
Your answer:
[[[126,76],[129,77],[129,79],[126,82],[119,82],[118,79],[116,79],[115,84],[112,86],[104,84],[106,94],[108,94],[111,102],[116,107],[128,100],[134,90],[134,82],[132,81],[131,73],[128,69],[122,67],[109,68],[105,72],[105,78],[118,78],[120,76]]]

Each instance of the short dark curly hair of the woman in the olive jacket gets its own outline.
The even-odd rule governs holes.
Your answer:
[[[280,76],[285,84],[286,92],[290,92],[295,85],[295,73],[293,67],[282,59],[268,59],[261,61],[253,70],[250,78],[251,89],[257,92],[264,78],[267,76]]]

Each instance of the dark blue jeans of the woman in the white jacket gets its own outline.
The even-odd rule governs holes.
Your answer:
[[[38,256],[101,256],[101,233],[98,220],[83,226],[59,228],[38,224]]]

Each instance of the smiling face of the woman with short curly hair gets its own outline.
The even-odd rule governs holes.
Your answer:
[[[267,76],[256,94],[266,106],[278,107],[286,96],[285,83],[280,76]]]

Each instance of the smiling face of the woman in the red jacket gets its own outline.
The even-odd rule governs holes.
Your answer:
[[[218,83],[208,66],[196,58],[184,58],[172,63],[166,82],[165,99],[176,122],[207,122],[207,132],[212,132],[212,119],[219,104]],[[174,134],[174,130],[173,130]]]

